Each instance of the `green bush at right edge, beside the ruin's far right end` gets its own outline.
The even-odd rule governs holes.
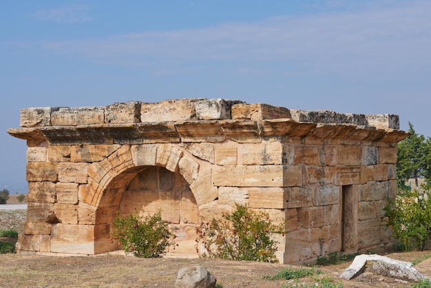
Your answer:
[[[417,190],[399,189],[395,198],[388,199],[384,208],[388,227],[406,251],[423,251],[431,240],[431,197]]]

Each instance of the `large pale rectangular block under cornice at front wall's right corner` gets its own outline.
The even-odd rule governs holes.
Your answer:
[[[281,143],[244,144],[242,145],[242,165],[282,165],[282,154]],[[236,165],[236,163],[224,165]]]

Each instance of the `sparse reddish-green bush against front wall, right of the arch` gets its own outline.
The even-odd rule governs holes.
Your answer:
[[[251,260],[277,262],[275,251],[277,241],[272,233],[283,233],[284,225],[273,225],[269,215],[253,212],[244,205],[237,205],[231,214],[223,214],[222,219],[200,224],[196,229],[199,247],[204,247],[202,256],[228,260]]]

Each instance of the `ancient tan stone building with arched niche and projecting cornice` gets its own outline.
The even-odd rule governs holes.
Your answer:
[[[28,145],[21,254],[114,251],[117,212],[161,208],[177,236],[169,254],[196,256],[201,219],[235,203],[286,223],[282,263],[391,246],[383,207],[408,136],[397,115],[178,99],[25,108],[20,125],[8,133]]]

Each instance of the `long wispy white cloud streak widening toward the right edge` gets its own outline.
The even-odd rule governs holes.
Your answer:
[[[41,45],[125,65],[275,61],[315,72],[402,72],[419,66],[430,71],[431,1],[376,7]]]

